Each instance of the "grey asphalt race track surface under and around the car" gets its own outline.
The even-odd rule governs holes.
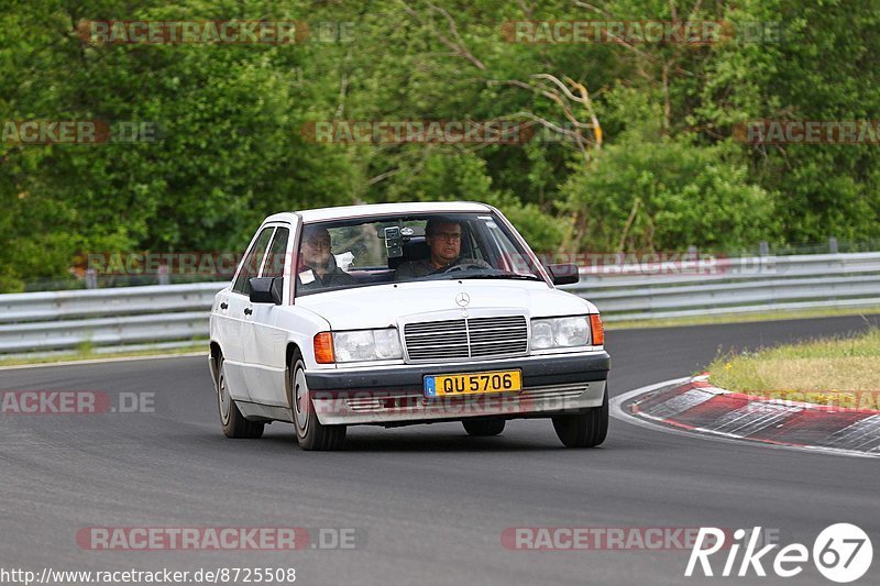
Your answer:
[[[872,318],[875,323],[879,318]],[[718,349],[864,330],[861,318],[612,331],[612,395],[688,375]],[[510,527],[778,530],[812,548],[836,522],[880,552],[875,460],[659,433],[616,419],[596,450],[549,421],[474,439],[458,423],[352,428],[307,453],[293,427],[223,438],[201,357],[0,371],[0,390],[154,392],[154,412],[0,416],[0,568],[295,567],[298,584],[831,584],[683,577],[688,551],[516,551]],[[354,550],[91,551],[88,527],[354,528]],[[880,555],[880,553],[878,553]],[[878,583],[880,562],[864,583]],[[717,562],[716,571],[723,561]],[[766,564],[768,565],[768,564]],[[738,566],[738,564],[737,564]],[[772,572],[772,571],[771,571]]]

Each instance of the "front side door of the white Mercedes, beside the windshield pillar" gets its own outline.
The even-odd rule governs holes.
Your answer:
[[[285,279],[280,306],[251,303],[253,313],[244,322],[245,379],[251,400],[263,405],[287,406],[284,390],[285,352],[287,332],[275,325],[278,314],[289,300],[289,268],[292,254],[290,228],[278,225],[268,254],[263,262],[261,277]]]

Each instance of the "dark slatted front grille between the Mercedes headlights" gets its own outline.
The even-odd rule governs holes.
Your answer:
[[[528,352],[528,327],[522,316],[408,323],[404,339],[413,361],[488,358]]]

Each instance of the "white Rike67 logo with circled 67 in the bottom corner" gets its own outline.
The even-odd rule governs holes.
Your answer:
[[[756,527],[750,533],[745,529],[737,529],[733,534],[733,542],[726,543],[725,538],[729,532],[714,527],[701,527],[696,542],[688,560],[686,577],[700,575],[718,576],[767,576],[765,564],[772,572],[783,578],[796,576],[804,570],[804,564],[810,561],[810,550],[802,543],[791,543],[769,555],[779,548],[778,543],[759,546],[761,528]],[[743,550],[741,559],[739,552]],[[713,568],[710,557],[724,551],[727,555],[724,567],[719,574],[717,565]],[[722,554],[723,557],[724,553]],[[846,584],[864,576],[871,566],[873,548],[868,534],[860,528],[850,523],[836,523],[826,527],[813,542],[813,563],[816,570],[832,582]],[[717,560],[718,562],[721,560]],[[738,562],[738,563],[737,563]],[[754,574],[751,574],[754,572]]]

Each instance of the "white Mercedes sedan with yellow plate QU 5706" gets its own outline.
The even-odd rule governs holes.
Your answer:
[[[294,423],[306,450],[346,425],[461,421],[496,435],[552,419],[562,443],[608,428],[596,307],[557,285],[495,208],[382,203],[276,213],[215,298],[210,369],[230,438]]]

